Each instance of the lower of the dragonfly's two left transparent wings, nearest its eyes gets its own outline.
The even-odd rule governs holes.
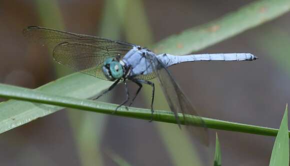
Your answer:
[[[128,50],[108,47],[105,50],[98,45],[63,42],[53,49],[53,58],[57,62],[75,69],[76,71],[107,80],[101,70],[104,60],[108,57],[121,57]]]

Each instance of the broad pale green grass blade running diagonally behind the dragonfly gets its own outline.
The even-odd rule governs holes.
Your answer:
[[[178,54],[193,52],[238,34],[243,30],[249,29],[258,24],[262,24],[267,20],[273,19],[288,11],[289,5],[290,1],[288,0],[259,0],[209,24],[188,29],[179,35],[174,35],[168,39],[164,39],[153,47],[157,52],[169,52]],[[251,12],[250,10],[254,11]],[[239,17],[245,18],[245,15],[249,15],[249,13],[252,15],[247,17],[247,19],[250,18],[250,21],[254,23],[243,22],[241,21],[241,18],[237,19]],[[234,25],[230,26],[230,22]],[[216,26],[214,25],[219,25],[220,29],[216,29]],[[241,28],[239,28],[239,26],[241,26]],[[209,30],[210,32],[208,32],[208,28],[211,29]],[[221,29],[223,33],[219,32]],[[63,96],[74,96],[76,98],[83,99],[95,95],[97,92],[106,89],[111,84],[110,82],[88,77],[89,76],[84,76],[82,74],[72,74],[60,79],[61,81],[58,80],[57,82],[51,82],[41,86],[37,88],[37,90]],[[31,103],[14,100],[0,103],[0,133],[60,109],[60,107],[55,106],[49,106],[49,109],[43,109],[41,107],[36,107]],[[15,123],[11,121],[15,117],[17,117],[17,119],[21,119],[18,119],[18,122]]]

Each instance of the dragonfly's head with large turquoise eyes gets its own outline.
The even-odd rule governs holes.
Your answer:
[[[123,67],[115,58],[107,58],[103,63],[102,72],[109,81],[114,81],[123,76]]]

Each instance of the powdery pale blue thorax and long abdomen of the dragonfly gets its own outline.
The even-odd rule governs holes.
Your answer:
[[[250,53],[192,54],[182,56],[170,54],[156,55],[147,49],[139,50],[137,47],[133,47],[122,59],[122,62],[124,62],[126,66],[131,66],[131,73],[129,76],[150,74],[153,71],[153,64],[151,64],[151,62],[156,62],[156,60],[148,61],[147,58],[157,58],[166,67],[193,61],[243,61],[256,59],[256,57]]]

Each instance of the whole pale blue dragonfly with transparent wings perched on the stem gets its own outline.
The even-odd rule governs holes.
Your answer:
[[[179,127],[181,123],[178,113],[183,115],[182,124],[189,124],[190,121],[197,124],[204,123],[175,82],[167,67],[183,62],[202,60],[251,61],[256,59],[250,53],[193,54],[183,56],[162,53],[156,55],[149,49],[135,44],[37,26],[25,28],[23,34],[29,39],[39,41],[41,44],[47,44],[48,47],[53,48],[53,58],[58,63],[103,80],[114,81],[96,99],[111,91],[118,82],[123,82],[126,99],[116,110],[129,101],[127,81],[130,80],[138,86],[138,89],[129,106],[140,92],[142,84],[148,84],[152,87],[151,112],[153,114],[155,86],[149,80],[157,77]],[[193,115],[193,118],[186,118],[185,114]],[[203,128],[193,129],[195,132],[199,130],[196,135],[206,139],[206,127],[204,125],[201,125],[201,127]]]

